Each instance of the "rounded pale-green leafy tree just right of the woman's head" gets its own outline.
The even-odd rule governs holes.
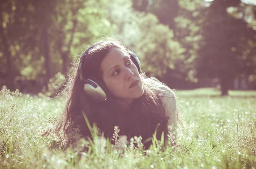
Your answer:
[[[174,39],[168,26],[160,24],[153,14],[138,14],[140,40],[134,47],[144,63],[144,70],[161,78],[168,68],[175,69],[175,62],[182,59],[184,48]]]

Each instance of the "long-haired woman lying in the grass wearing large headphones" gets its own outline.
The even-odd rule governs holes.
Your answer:
[[[66,90],[69,94],[58,130],[69,136],[74,129],[81,137],[90,136],[84,115],[90,125],[111,138],[114,127],[119,135],[129,138],[142,136],[145,148],[157,129],[167,140],[167,127],[176,132],[179,120],[176,96],[156,78],[148,78],[141,70],[140,60],[124,45],[116,41],[100,41],[88,48],[73,67]]]

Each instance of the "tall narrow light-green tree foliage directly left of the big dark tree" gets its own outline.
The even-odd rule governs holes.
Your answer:
[[[185,81],[198,82],[194,76],[194,60],[197,57],[198,41],[202,36],[200,34],[201,24],[197,20],[201,16],[201,8],[205,8],[208,4],[204,0],[179,0],[180,8],[175,18],[175,39],[180,42],[185,51],[183,52],[184,58],[176,63],[176,72],[171,73],[171,76],[178,76]]]

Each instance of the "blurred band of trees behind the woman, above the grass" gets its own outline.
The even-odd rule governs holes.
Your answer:
[[[256,0],[1,0],[0,88],[55,90],[107,37],[172,89],[256,90]]]

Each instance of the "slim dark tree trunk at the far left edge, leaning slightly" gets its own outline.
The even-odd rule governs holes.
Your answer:
[[[9,51],[9,45],[6,39],[6,35],[4,34],[4,28],[3,28],[3,10],[2,6],[0,6],[0,36],[2,37],[1,43],[3,44],[3,54],[6,56],[7,60],[7,72],[9,76],[6,78],[6,85],[9,89],[13,90],[15,88],[14,86],[14,75],[13,75],[13,68],[12,68],[12,59],[11,54]]]

